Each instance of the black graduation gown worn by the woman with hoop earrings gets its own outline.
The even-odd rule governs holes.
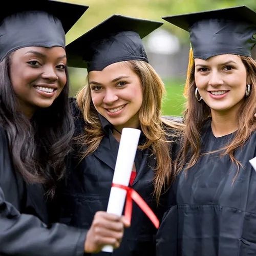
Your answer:
[[[202,136],[202,152],[222,148],[233,134],[216,138],[210,120]],[[181,173],[169,191],[169,209],[157,234],[158,256],[256,255],[256,133],[234,156],[204,155]],[[233,183],[232,183],[233,182]]]

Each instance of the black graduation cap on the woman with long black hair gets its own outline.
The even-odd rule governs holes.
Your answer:
[[[0,12],[0,61],[28,46],[65,48],[67,33],[88,6],[54,0],[5,3]]]

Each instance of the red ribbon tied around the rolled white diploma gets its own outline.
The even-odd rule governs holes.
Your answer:
[[[145,212],[146,216],[150,218],[152,223],[155,225],[156,228],[159,227],[159,220],[157,219],[156,215],[152,211],[152,209],[146,204],[146,202],[142,199],[142,197],[131,187],[127,187],[120,184],[112,183],[112,187],[119,187],[127,191],[126,195],[126,204],[124,210],[124,216],[129,220],[131,223],[132,219],[132,210],[133,210],[133,200],[139,207]]]

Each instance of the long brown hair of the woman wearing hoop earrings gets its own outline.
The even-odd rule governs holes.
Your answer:
[[[234,158],[234,151],[243,146],[251,133],[256,130],[256,62],[250,57],[240,56],[242,62],[251,79],[250,95],[242,102],[240,111],[237,114],[238,130],[233,140],[219,151],[221,156],[228,154],[231,161],[238,167],[241,165],[239,161]],[[200,139],[201,130],[210,117],[210,108],[202,100],[198,101],[195,97],[196,83],[195,83],[195,62],[190,69],[189,77],[187,79],[187,107],[184,112],[185,126],[181,136],[181,150],[175,161],[175,175],[177,175],[186,164],[185,170],[192,167],[200,156]],[[188,161],[186,161],[189,159]],[[237,173],[238,174],[238,173]],[[236,178],[236,177],[235,177]]]

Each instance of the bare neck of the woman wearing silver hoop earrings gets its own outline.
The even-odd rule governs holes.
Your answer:
[[[211,129],[215,137],[222,137],[238,130],[238,108],[228,112],[211,110]]]

